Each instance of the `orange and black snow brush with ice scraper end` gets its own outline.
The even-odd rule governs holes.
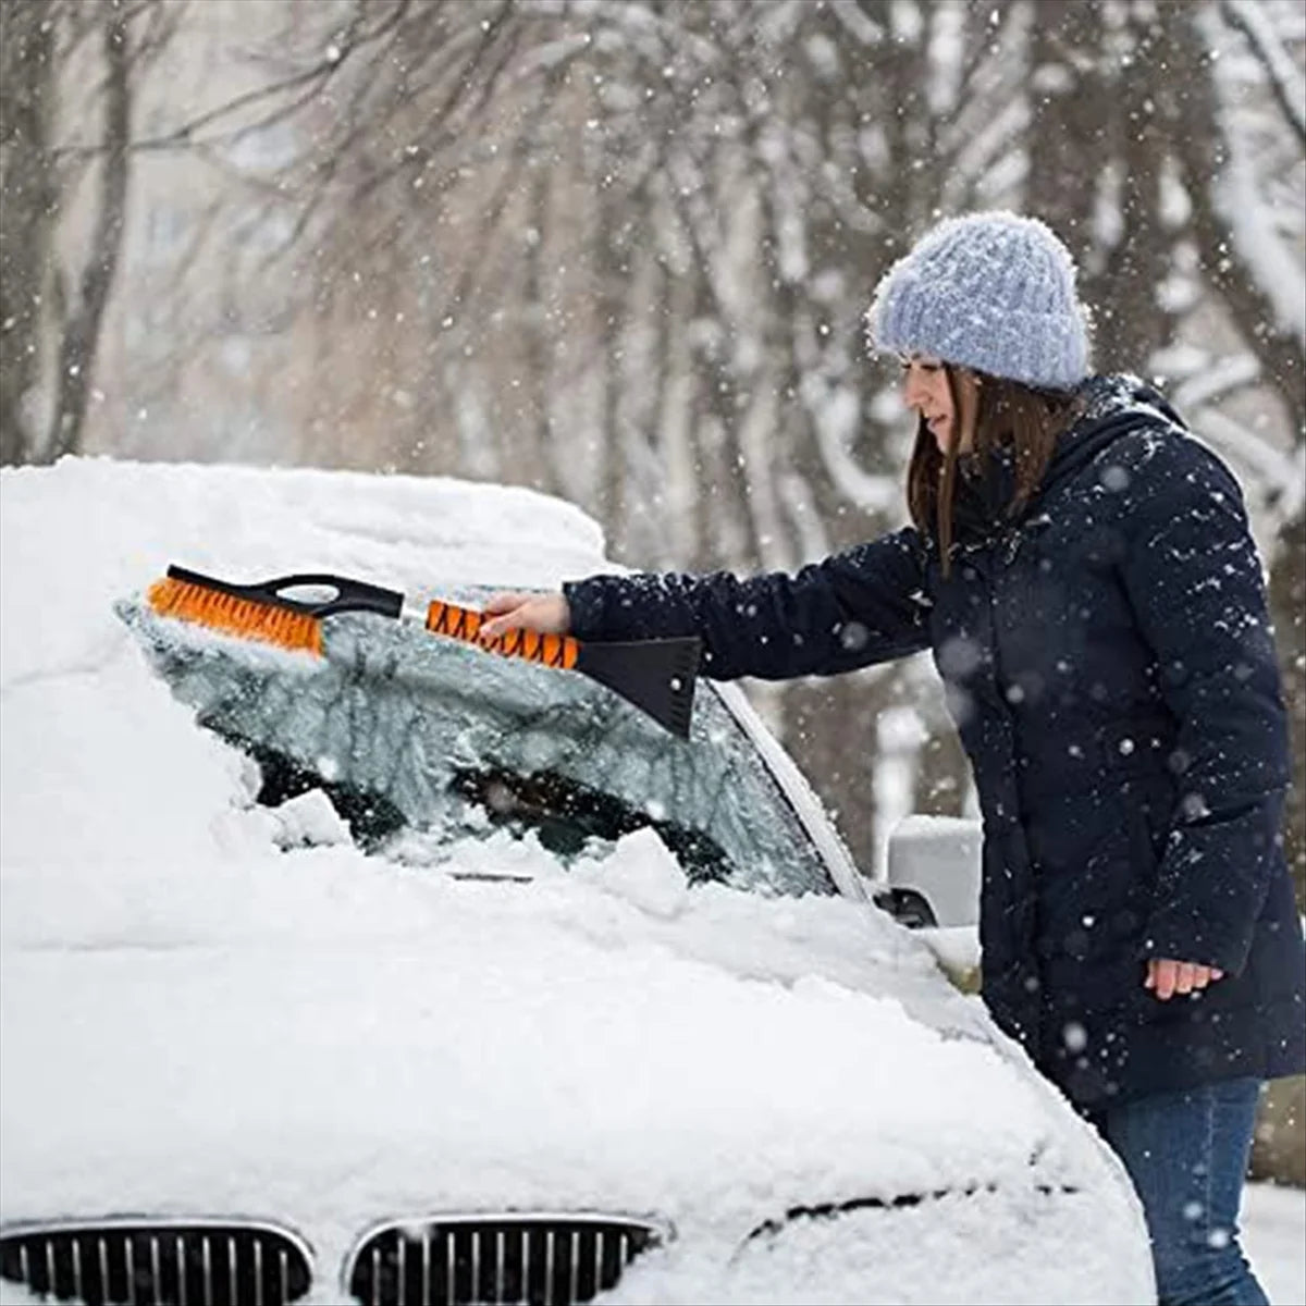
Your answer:
[[[316,592],[293,597],[294,590]],[[541,666],[579,671],[606,686],[682,739],[690,738],[693,684],[701,643],[697,639],[592,643],[569,635],[507,631],[481,636],[482,614],[439,599],[423,611],[393,589],[345,576],[279,576],[253,585],[168,567],[146,596],[159,616],[205,626],[223,635],[277,644],[324,657],[323,620],[337,613],[375,613],[413,622],[432,635],[461,640],[487,653],[518,657]]]

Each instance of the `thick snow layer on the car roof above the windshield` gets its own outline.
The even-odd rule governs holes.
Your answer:
[[[5,468],[3,483],[4,603],[24,620],[5,624],[0,683],[74,658],[73,641],[112,624],[108,602],[168,563],[229,580],[333,571],[392,589],[445,576],[552,586],[603,565],[590,517],[508,486],[108,458]],[[80,615],[55,616],[56,602]]]

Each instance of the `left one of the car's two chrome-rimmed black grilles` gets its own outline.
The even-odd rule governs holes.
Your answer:
[[[86,1306],[287,1306],[311,1286],[311,1256],[296,1234],[255,1221],[119,1216],[0,1228],[7,1281]]]

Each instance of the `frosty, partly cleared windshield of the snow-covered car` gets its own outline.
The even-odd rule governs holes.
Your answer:
[[[432,596],[435,597],[435,596]],[[477,606],[483,592],[439,597]],[[325,658],[119,614],[202,725],[260,764],[260,801],[323,789],[359,844],[404,857],[507,828],[564,865],[652,828],[691,882],[833,893],[748,734],[697,687],[691,738],[579,674],[366,615],[325,624]],[[432,855],[434,850],[434,855]]]

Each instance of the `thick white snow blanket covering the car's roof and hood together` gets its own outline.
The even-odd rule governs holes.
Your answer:
[[[505,835],[405,868],[312,795],[319,846],[279,852],[287,816],[112,614],[174,560],[556,584],[602,565],[580,513],[90,460],[0,488],[0,1217],[242,1212],[329,1256],[448,1208],[737,1239],[799,1204],[1118,1178],[862,904],[690,889],[652,832],[569,872]]]

